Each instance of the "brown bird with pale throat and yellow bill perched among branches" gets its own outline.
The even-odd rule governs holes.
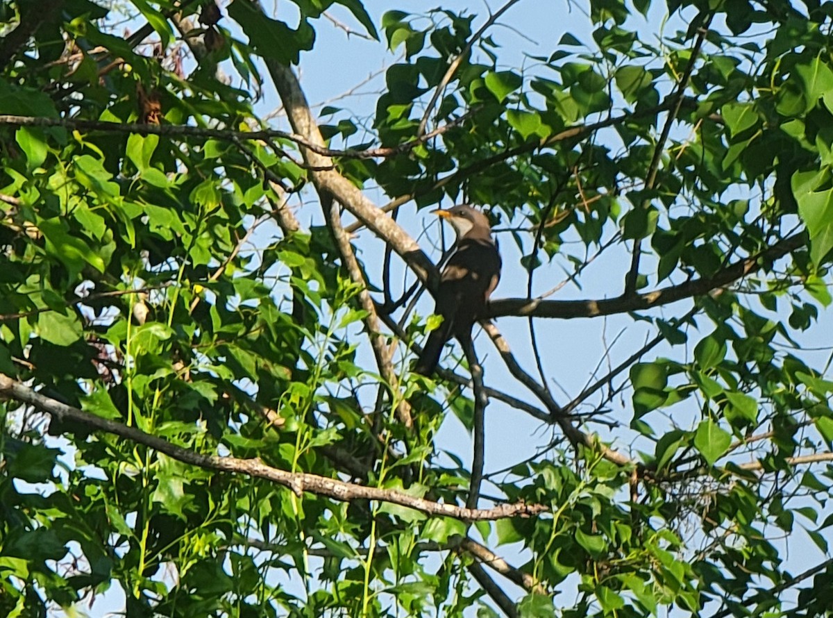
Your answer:
[[[428,335],[413,369],[422,376],[434,372],[451,337],[463,346],[471,341],[471,328],[484,315],[486,302],[501,278],[501,255],[486,215],[467,204],[431,212],[451,224],[456,242],[436,290],[434,313],[442,316],[442,322]]]

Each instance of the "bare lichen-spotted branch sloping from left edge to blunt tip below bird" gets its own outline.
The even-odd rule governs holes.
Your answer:
[[[543,505],[527,505],[524,502],[501,504],[491,509],[469,509],[462,506],[445,504],[425,500],[416,496],[409,496],[402,491],[384,490],[377,487],[366,487],[347,483],[337,479],[307,474],[306,472],[289,472],[280,468],[267,466],[259,458],[239,459],[237,457],[221,457],[217,455],[203,455],[177,446],[158,436],[152,436],[137,427],[128,427],[116,421],[110,421],[95,416],[89,412],[43,396],[22,382],[12,380],[9,376],[0,374],[0,395],[21,401],[35,409],[46,412],[58,421],[75,421],[84,426],[99,431],[105,431],[126,440],[148,446],[165,455],[192,466],[206,470],[232,472],[255,478],[272,481],[278,485],[288,487],[301,496],[308,491],[317,496],[327,496],[333,500],[349,502],[353,500],[377,500],[400,506],[407,506],[426,515],[454,517],[462,521],[491,521],[514,516],[534,516],[546,511]]]

